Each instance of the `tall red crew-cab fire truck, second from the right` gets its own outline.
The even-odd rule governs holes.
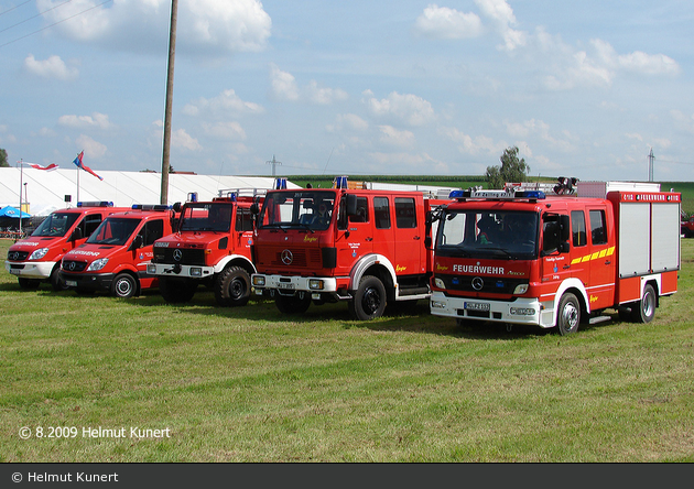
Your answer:
[[[347,301],[360,320],[381,316],[387,304],[429,298],[426,215],[449,200],[425,194],[347,177],[333,188],[268,192],[256,222],[256,293],[274,298],[282,313]]]

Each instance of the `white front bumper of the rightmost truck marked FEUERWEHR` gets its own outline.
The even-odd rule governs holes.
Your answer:
[[[540,327],[553,326],[553,311],[547,311],[538,298],[533,297],[497,301],[477,297],[451,297],[443,292],[434,291],[429,300],[429,305],[431,313],[435,316]]]

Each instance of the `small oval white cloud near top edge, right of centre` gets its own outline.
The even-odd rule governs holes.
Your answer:
[[[416,33],[434,39],[477,37],[482,33],[481,20],[447,7],[430,4],[414,23]]]

